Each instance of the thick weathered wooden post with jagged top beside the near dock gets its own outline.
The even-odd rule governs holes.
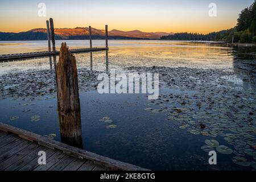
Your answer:
[[[56,65],[57,101],[61,141],[82,148],[82,129],[76,57],[61,44]]]

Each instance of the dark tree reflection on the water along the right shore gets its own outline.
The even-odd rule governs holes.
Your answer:
[[[233,49],[233,69],[243,80],[244,89],[256,90],[256,53],[255,47]]]

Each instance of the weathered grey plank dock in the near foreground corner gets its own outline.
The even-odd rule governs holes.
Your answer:
[[[46,165],[39,165],[39,151]],[[148,171],[0,123],[0,171]]]

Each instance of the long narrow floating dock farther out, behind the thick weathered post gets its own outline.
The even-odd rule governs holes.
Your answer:
[[[94,48],[81,48],[81,49],[70,49],[69,51],[71,53],[79,53],[79,52],[92,52],[92,51],[104,51],[108,48],[106,47],[94,47]],[[56,51],[49,52],[49,51],[43,51],[43,52],[28,52],[28,53],[13,53],[9,55],[0,55],[0,61],[4,60],[14,60],[14,59],[24,59],[24,58],[31,58],[31,57],[41,57],[41,56],[54,56],[59,55],[60,52]]]

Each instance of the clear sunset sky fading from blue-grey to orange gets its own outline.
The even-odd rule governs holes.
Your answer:
[[[208,32],[236,26],[238,14],[254,0],[0,0],[0,32],[46,28],[53,18],[55,28],[88,27],[145,32]],[[39,16],[39,3],[46,16]],[[209,16],[215,3],[217,16]],[[40,11],[41,13],[43,11]]]

